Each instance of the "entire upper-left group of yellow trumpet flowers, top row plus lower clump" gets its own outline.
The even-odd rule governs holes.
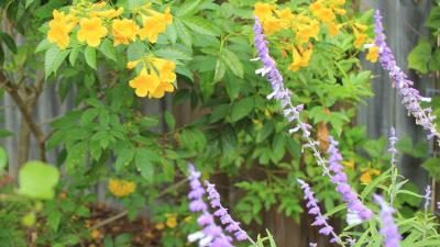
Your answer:
[[[127,13],[127,16],[123,14],[122,7],[116,9],[106,1],[80,1],[72,5],[68,13],[54,10],[53,20],[48,22],[47,40],[61,49],[68,48],[75,37],[90,47],[99,47],[106,38],[112,41],[113,46],[130,45],[136,41],[156,43],[158,35],[173,22],[169,8],[162,13],[155,11],[151,3]],[[138,97],[162,98],[165,92],[174,91],[174,61],[152,55],[142,60],[144,63],[128,63],[129,68],[142,65],[138,77],[130,81]]]

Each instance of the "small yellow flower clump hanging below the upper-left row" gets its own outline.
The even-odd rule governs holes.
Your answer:
[[[142,66],[141,72],[130,80],[130,87],[135,89],[139,97],[162,98],[165,92],[173,92],[176,80],[176,64],[170,60],[146,56],[139,60],[129,61],[127,68]]]

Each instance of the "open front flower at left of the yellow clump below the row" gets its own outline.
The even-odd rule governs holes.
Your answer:
[[[130,80],[130,87],[135,89],[138,97],[147,97],[156,91],[161,81],[158,76],[153,72],[148,74],[145,68],[141,70],[141,74],[134,79]]]

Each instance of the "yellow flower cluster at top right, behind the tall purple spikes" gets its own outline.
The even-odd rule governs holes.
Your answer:
[[[336,36],[341,29],[348,26],[353,30],[355,48],[362,48],[364,44],[371,42],[365,34],[366,25],[341,21],[341,16],[346,14],[344,4],[345,0],[317,0],[305,9],[293,12],[289,8],[279,9],[272,3],[257,2],[254,5],[254,15],[260,20],[266,35],[274,35],[282,31],[294,33],[294,38],[284,45],[283,50],[290,53],[293,57],[288,69],[297,71],[310,63],[314,43],[320,40],[321,32]],[[375,63],[378,55],[377,47],[374,45],[366,47],[369,48],[366,59]]]

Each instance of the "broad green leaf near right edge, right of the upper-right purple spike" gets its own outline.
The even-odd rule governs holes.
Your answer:
[[[408,67],[421,74],[427,74],[428,63],[431,60],[431,44],[426,40],[420,40],[408,55]]]

